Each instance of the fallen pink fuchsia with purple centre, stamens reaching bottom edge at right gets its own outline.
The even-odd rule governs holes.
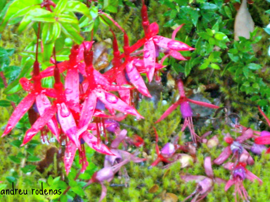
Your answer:
[[[246,168],[245,163],[238,163],[236,166],[234,166],[233,163],[227,163],[225,168],[231,170],[231,177],[225,186],[225,191],[227,191],[234,184],[235,202],[237,202],[237,195],[239,195],[243,201],[250,200],[250,197],[248,196],[247,191],[243,185],[244,179],[249,179],[252,182],[254,182],[256,179],[258,180],[260,185],[262,185],[263,183],[263,181],[259,177],[257,177],[255,174],[253,174]]]

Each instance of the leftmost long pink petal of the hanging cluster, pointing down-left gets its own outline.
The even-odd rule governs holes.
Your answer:
[[[7,135],[28,111],[28,109],[30,109],[36,99],[36,96],[36,93],[30,93],[18,104],[6,124],[2,137]]]

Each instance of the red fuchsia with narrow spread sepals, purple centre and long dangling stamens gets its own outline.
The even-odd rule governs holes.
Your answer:
[[[181,114],[184,118],[184,125],[183,125],[181,131],[182,132],[185,131],[185,129],[188,127],[190,130],[191,136],[192,136],[192,140],[194,143],[196,143],[196,139],[199,139],[200,137],[194,131],[193,119],[192,119],[193,112],[192,112],[192,108],[191,108],[189,102],[192,102],[194,104],[198,104],[201,106],[209,107],[209,108],[214,108],[214,109],[219,108],[219,106],[216,106],[214,104],[209,104],[206,102],[202,102],[202,101],[191,100],[191,99],[187,98],[185,95],[184,85],[183,85],[183,81],[181,79],[179,79],[177,81],[177,85],[178,85],[180,99],[178,101],[176,101],[174,104],[172,104],[161,115],[161,117],[155,123],[158,123],[161,120],[163,120],[164,118],[166,118],[173,110],[175,110],[178,107],[178,105],[180,105],[180,111],[181,111]]]

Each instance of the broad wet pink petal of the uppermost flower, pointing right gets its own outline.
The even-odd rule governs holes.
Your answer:
[[[190,47],[186,43],[183,43],[181,41],[172,40],[170,38],[166,38],[163,36],[156,35],[153,37],[153,41],[156,45],[170,49],[170,50],[176,50],[176,51],[189,51],[194,50],[193,47]]]

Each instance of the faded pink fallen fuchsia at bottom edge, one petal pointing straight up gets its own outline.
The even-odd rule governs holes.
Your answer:
[[[214,183],[226,183],[226,180],[221,179],[219,177],[214,177],[211,157],[205,157],[204,159],[204,169],[207,176],[203,175],[182,175],[181,178],[186,182],[195,181],[197,183],[197,187],[195,191],[188,196],[183,202],[187,201],[191,197],[193,197],[191,202],[199,202],[204,199],[209,192],[213,190]]]

